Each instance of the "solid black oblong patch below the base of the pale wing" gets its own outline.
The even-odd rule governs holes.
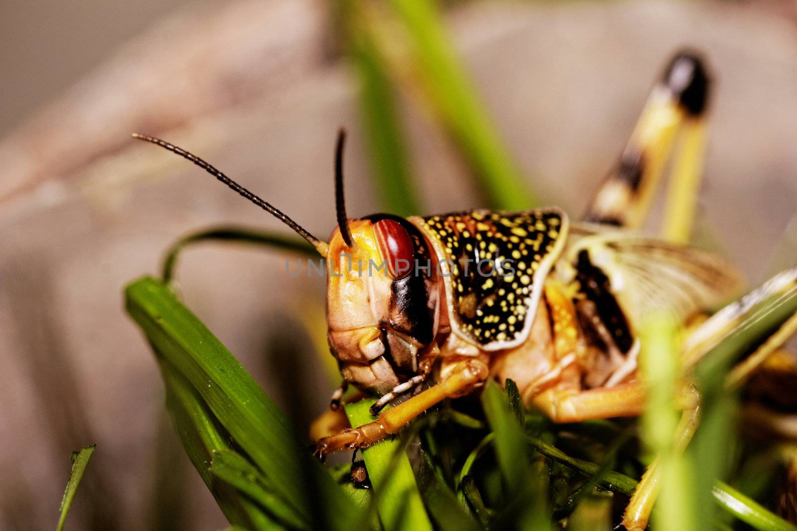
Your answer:
[[[579,281],[581,291],[587,299],[595,303],[595,309],[614,339],[614,345],[620,349],[620,352],[627,353],[634,346],[634,336],[631,334],[626,314],[611,292],[609,277],[592,264],[587,249],[579,252],[575,269],[578,271],[576,279]]]

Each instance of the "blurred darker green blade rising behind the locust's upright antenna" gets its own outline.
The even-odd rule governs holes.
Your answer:
[[[358,0],[341,2],[347,53],[359,78],[359,107],[379,202],[389,213],[423,213],[410,178],[410,157],[402,135],[398,102],[371,28],[363,23]]]

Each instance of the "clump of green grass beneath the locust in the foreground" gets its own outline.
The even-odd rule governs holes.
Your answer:
[[[186,452],[234,525],[552,529],[584,503],[604,506],[608,525],[617,521],[641,474],[637,442],[629,435],[634,421],[552,424],[518,407],[514,385],[502,389],[491,382],[481,402],[445,404],[402,437],[363,451],[372,488],[356,489],[346,467],[325,470],[312,459],[308,441],[166,285],[144,278],[126,295],[128,312],[162,370],[167,408]],[[797,310],[797,295],[767,316],[775,310]],[[777,321],[760,325],[759,332]],[[730,337],[716,349],[731,352],[728,342],[740,344]],[[352,424],[372,420],[370,404],[347,405]],[[413,467],[406,445],[415,440],[420,455]],[[677,455],[671,457],[677,464]],[[723,482],[713,482],[708,494],[724,513],[756,529],[795,529]],[[704,525],[701,517],[697,528]]]

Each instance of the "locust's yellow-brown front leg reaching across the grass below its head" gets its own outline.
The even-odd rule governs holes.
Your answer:
[[[316,455],[323,459],[332,451],[365,448],[379,443],[387,435],[398,433],[411,420],[441,400],[472,392],[487,380],[488,375],[489,369],[483,361],[477,359],[461,361],[452,369],[446,380],[418,393],[402,404],[379,413],[374,422],[320,439],[316,443]]]

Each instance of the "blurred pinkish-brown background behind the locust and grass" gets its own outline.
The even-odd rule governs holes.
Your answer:
[[[171,431],[121,290],[156,274],[168,245],[192,230],[287,228],[183,159],[133,142],[132,131],[192,150],[320,237],[335,225],[341,126],[350,216],[485,205],[398,22],[364,2],[356,20],[365,22],[352,24],[354,4],[344,3],[0,4],[0,528],[53,526],[69,452],[89,443],[97,450],[68,529],[226,525]],[[788,265],[797,2],[438,8],[511,164],[541,203],[575,216],[669,57],[701,50],[716,91],[696,239],[753,283]],[[368,63],[371,39],[391,65],[385,85]],[[423,60],[421,51],[414,61]],[[375,138],[380,105],[392,107],[398,139]],[[411,179],[415,197],[375,181],[386,165]],[[177,278],[186,304],[305,429],[336,381],[312,341],[324,326],[324,281],[289,277],[288,258],[202,244]]]

